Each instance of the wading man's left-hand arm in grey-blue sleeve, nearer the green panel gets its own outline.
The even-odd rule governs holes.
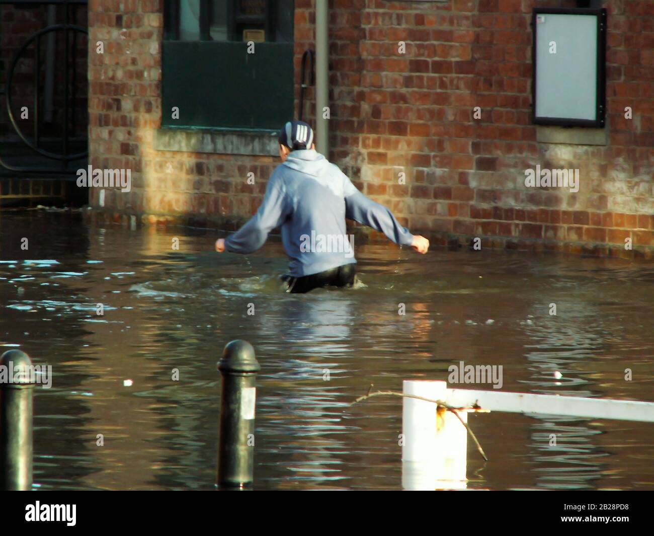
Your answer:
[[[256,214],[237,232],[216,241],[216,251],[225,249],[232,253],[252,253],[266,242],[269,232],[279,227],[288,215],[288,206],[282,190],[283,185],[273,177],[268,181],[264,201]]]

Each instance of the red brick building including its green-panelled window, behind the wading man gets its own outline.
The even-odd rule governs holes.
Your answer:
[[[317,1],[255,24],[271,43],[252,60],[256,33],[199,0],[91,0],[90,164],[132,172],[130,192],[90,189],[93,212],[220,228],[252,215],[279,163],[273,126],[298,116]],[[589,135],[532,122],[532,8],[576,1],[330,0],[329,159],[437,244],[631,255],[630,238],[651,257],[654,1],[594,5],[608,10],[606,127]],[[578,169],[579,191],[525,187],[536,166]]]

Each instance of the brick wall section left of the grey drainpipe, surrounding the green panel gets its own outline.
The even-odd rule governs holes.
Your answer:
[[[207,221],[233,228],[261,204],[266,181],[278,164],[271,156],[155,151],[161,124],[161,0],[91,0],[89,27],[90,162],[94,168],[132,170],[132,191],[107,192],[113,217],[136,213],[143,221]],[[296,50],[311,45],[313,12],[296,9]],[[311,38],[313,39],[313,38]],[[105,43],[105,54],[95,43]],[[300,58],[296,77],[300,79]],[[299,91],[298,91],[299,94]],[[312,98],[311,91],[307,97]],[[255,184],[247,184],[249,172]],[[90,204],[98,204],[97,190]]]

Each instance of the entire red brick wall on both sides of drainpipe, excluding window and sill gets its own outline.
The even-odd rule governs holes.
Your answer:
[[[95,167],[137,171],[117,212],[242,219],[271,157],[158,152],[162,2],[90,7],[90,150]],[[296,0],[296,82],[314,48],[314,0]],[[536,141],[530,122],[532,7],[573,1],[330,1],[330,160],[437,243],[623,254],[654,247],[654,2],[610,0],[609,143]],[[120,17],[120,19],[119,19]],[[97,40],[109,52],[94,53]],[[406,54],[398,54],[405,41]],[[129,47],[130,54],[126,56]],[[120,74],[118,71],[120,65]],[[298,97],[299,90],[296,93]],[[313,92],[307,92],[313,99]],[[296,101],[297,106],[297,101]],[[305,108],[305,113],[309,111]],[[481,119],[472,109],[481,107]],[[624,118],[625,107],[633,110]],[[313,107],[309,117],[313,117]],[[577,194],[525,188],[525,170],[577,168]],[[245,183],[254,171],[257,184]],[[406,184],[398,184],[404,171]],[[95,192],[92,204],[97,204]],[[153,219],[153,220],[156,220]],[[233,221],[237,223],[237,221]]]

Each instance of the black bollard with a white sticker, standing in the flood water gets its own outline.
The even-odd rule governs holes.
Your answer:
[[[245,340],[226,344],[218,362],[222,375],[218,487],[245,488],[254,472],[254,401],[256,373],[261,370],[254,348]]]

